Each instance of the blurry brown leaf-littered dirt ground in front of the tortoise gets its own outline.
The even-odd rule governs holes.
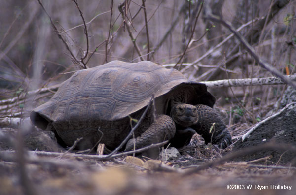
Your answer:
[[[88,156],[26,155],[18,163],[0,153],[1,195],[294,195],[296,168],[266,165],[268,158],[226,162],[197,170],[221,159],[231,148],[217,151],[203,143],[181,150],[171,161],[123,156],[111,160]]]

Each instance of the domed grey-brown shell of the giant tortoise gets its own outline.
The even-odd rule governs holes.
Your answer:
[[[157,114],[169,114],[170,97],[180,89],[195,92],[184,103],[210,107],[215,103],[204,84],[186,79],[176,69],[149,61],[112,61],[74,73],[30,118],[37,127],[54,131],[65,145],[83,137],[83,148],[100,142],[113,149],[131,130],[129,117],[139,119],[153,95]],[[151,118],[144,120],[136,136],[152,123]]]

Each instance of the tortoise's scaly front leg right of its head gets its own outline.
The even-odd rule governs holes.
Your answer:
[[[209,106],[202,104],[195,106],[198,113],[198,122],[192,125],[191,128],[204,138],[206,144],[217,144],[223,149],[229,146],[232,143],[231,135],[219,114]]]

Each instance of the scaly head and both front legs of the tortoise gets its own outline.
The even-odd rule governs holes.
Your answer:
[[[179,103],[173,106],[170,115],[159,115],[141,136],[128,141],[125,151],[165,140],[170,140],[172,146],[180,148],[189,143],[195,132],[204,138],[206,144],[211,142],[221,148],[231,144],[226,125],[209,106]]]

